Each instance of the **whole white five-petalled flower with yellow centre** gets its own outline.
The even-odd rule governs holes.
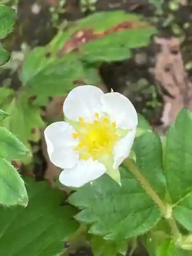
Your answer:
[[[109,174],[120,184],[118,166],[129,156],[138,123],[129,99],[95,86],[73,89],[63,104],[65,122],[45,130],[51,162],[62,184],[80,187]]]

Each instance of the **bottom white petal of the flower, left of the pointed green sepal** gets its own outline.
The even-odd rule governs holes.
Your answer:
[[[69,187],[80,187],[99,178],[105,171],[105,166],[98,161],[92,159],[79,160],[75,167],[64,169],[61,172],[59,181]]]

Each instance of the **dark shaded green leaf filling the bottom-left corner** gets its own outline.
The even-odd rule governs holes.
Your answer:
[[[61,206],[62,193],[46,182],[26,180],[26,183],[28,206],[0,209],[1,253],[9,256],[60,255],[63,241],[78,229],[73,219],[76,211]]]

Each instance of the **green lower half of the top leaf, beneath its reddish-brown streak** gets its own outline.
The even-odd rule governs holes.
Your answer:
[[[79,50],[90,62],[120,61],[131,57],[131,49],[146,46],[154,32],[152,27],[118,31],[83,44]]]

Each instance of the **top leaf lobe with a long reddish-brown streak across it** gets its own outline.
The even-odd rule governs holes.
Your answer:
[[[155,29],[137,15],[123,11],[96,13],[80,20],[63,42],[59,55],[78,53],[89,61],[114,61],[130,57],[130,49],[148,44]]]

